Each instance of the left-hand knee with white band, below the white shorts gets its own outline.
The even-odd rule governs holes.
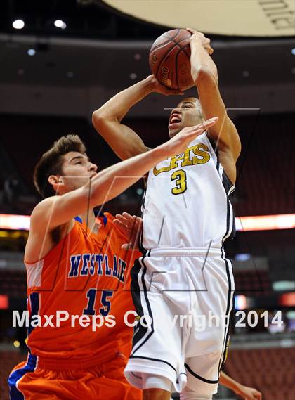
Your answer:
[[[172,382],[160,375],[142,374],[143,400],[169,400]]]

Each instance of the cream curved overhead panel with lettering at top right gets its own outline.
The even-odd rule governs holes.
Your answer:
[[[126,15],[166,27],[246,37],[295,33],[294,0],[104,0]]]

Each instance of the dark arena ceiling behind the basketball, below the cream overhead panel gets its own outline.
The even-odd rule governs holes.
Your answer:
[[[0,10],[0,112],[90,114],[150,74],[150,46],[167,30],[96,0],[2,0]],[[13,29],[15,18],[25,20],[22,30]],[[294,110],[295,37],[208,36],[229,105]],[[162,97],[151,96],[140,114],[162,109],[169,103]]]

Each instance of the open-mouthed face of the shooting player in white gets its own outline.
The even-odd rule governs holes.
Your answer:
[[[203,122],[201,103],[195,97],[183,99],[173,108],[169,118],[169,137],[173,137],[185,127],[193,127]]]

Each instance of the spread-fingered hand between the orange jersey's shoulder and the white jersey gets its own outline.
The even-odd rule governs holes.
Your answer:
[[[122,249],[138,250],[140,233],[143,229],[143,219],[136,217],[136,215],[132,216],[128,212],[123,212],[122,214],[116,214],[116,219],[113,222],[119,228],[119,231],[129,238],[129,243],[122,245]]]

